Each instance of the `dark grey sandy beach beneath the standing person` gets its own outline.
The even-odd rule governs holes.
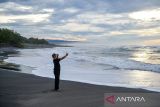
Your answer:
[[[54,79],[0,69],[0,107],[103,107],[104,93],[150,92],[63,80],[53,88]]]

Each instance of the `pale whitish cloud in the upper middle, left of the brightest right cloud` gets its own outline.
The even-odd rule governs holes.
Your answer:
[[[95,13],[85,12],[78,14],[75,18],[67,20],[68,22],[81,22],[90,24],[126,24],[130,20],[126,18],[125,14],[111,14],[111,13]]]

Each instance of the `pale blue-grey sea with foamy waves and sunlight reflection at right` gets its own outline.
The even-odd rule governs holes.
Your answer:
[[[18,55],[5,61],[29,66],[34,75],[54,78],[52,53],[63,56],[68,52],[61,61],[62,80],[160,92],[160,46],[70,45],[73,47],[18,49]]]

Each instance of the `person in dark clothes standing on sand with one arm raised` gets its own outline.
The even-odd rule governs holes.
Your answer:
[[[59,80],[60,80],[60,61],[65,59],[68,56],[68,53],[64,55],[63,57],[59,58],[58,54],[53,53],[53,63],[54,63],[54,76],[55,76],[55,88],[54,90],[57,91],[59,89]]]

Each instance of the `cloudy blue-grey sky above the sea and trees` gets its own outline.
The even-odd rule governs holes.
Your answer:
[[[160,44],[160,0],[0,0],[0,28],[22,36]]]

